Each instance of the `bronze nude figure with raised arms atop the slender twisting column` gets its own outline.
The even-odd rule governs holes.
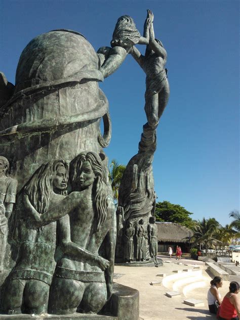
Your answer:
[[[167,52],[162,42],[154,37],[153,14],[149,10],[146,25],[149,44],[146,46],[145,56],[134,46],[131,54],[146,73],[145,112],[149,127],[156,128],[170,94],[167,69],[165,69]]]

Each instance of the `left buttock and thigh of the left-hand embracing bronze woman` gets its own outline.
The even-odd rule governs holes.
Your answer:
[[[6,313],[21,313],[24,285],[24,280],[14,279],[8,281],[3,295],[3,308]]]

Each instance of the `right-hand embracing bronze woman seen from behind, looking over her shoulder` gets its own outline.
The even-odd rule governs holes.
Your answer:
[[[115,249],[114,205],[100,157],[94,152],[76,156],[70,164],[70,182],[70,230],[62,226],[60,245],[71,235],[72,242],[92,254],[101,251],[110,265],[105,264],[104,274],[104,268],[96,262],[65,254],[53,278],[49,313],[96,313],[106,303],[107,293],[111,293]],[[103,243],[105,246],[101,246]]]

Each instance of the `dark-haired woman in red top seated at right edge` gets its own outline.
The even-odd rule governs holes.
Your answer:
[[[239,320],[240,316],[240,303],[237,298],[239,292],[239,285],[237,282],[232,281],[229,285],[229,292],[222,300],[219,312],[220,320]]]

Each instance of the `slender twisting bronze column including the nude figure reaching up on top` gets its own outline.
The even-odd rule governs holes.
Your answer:
[[[165,69],[167,52],[162,42],[155,39],[153,14],[150,10],[148,10],[145,22],[145,35],[147,38],[149,37],[145,56],[141,55],[135,46],[130,51],[133,58],[146,73],[144,109],[147,123],[143,126],[138,153],[129,161],[119,188],[118,206],[123,208],[125,219],[123,222],[123,234],[129,223],[132,223],[138,230],[139,221],[142,221],[141,225],[144,230],[149,229],[149,217],[154,216],[156,195],[154,192],[152,161],[156,149],[156,127],[168,103],[170,93],[167,69]],[[121,243],[121,241],[117,239],[117,243]],[[144,255],[140,260],[149,258],[148,245],[146,246],[148,255]],[[137,234],[134,249],[135,258],[139,260]],[[116,259],[118,262],[126,260],[121,254],[121,250],[116,250]],[[156,259],[154,259],[154,263],[156,264]]]

